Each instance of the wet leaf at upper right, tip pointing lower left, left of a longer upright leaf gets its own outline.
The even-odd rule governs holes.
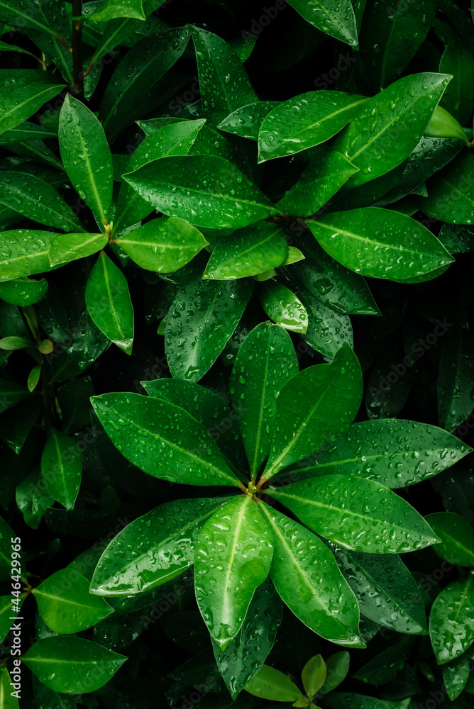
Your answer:
[[[282,101],[260,127],[258,162],[324,143],[360,113],[367,100],[358,94],[323,89]]]

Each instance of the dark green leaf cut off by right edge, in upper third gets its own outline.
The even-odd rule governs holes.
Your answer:
[[[419,208],[429,217],[453,224],[474,223],[474,155],[462,152],[426,184]]]

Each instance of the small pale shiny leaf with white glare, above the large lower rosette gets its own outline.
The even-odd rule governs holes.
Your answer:
[[[306,333],[308,313],[303,303],[277,281],[269,281],[258,289],[260,305],[271,320],[294,333]]]

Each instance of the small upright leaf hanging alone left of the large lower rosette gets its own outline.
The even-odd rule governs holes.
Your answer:
[[[53,428],[41,456],[41,475],[48,494],[74,508],[82,477],[82,452],[69,436]]]

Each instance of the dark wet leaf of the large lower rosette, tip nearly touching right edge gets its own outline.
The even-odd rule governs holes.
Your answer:
[[[470,447],[437,426],[382,418],[353,424],[299,473],[357,475],[396,489],[437,475],[469,452]]]

